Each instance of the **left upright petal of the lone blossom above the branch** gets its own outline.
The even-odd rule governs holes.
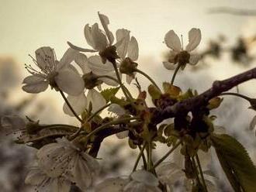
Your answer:
[[[181,41],[178,38],[177,34],[174,32],[174,30],[170,30],[168,31],[168,33],[166,33],[166,35],[164,36],[164,42],[172,50],[178,52],[182,50]]]

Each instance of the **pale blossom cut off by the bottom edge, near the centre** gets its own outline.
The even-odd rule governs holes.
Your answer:
[[[146,170],[137,170],[127,177],[109,178],[95,187],[95,192],[161,192],[159,182],[154,174]],[[108,189],[108,190],[106,190]]]

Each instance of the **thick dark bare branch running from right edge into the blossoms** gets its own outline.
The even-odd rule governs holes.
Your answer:
[[[207,91],[199,94],[198,96],[180,101],[175,105],[164,108],[164,110],[156,109],[154,113],[154,124],[158,124],[166,118],[173,118],[177,115],[186,114],[189,111],[199,108],[200,106],[207,105],[211,98],[215,98],[221,93],[229,91],[238,84],[242,84],[245,81],[249,81],[254,78],[256,78],[256,67],[251,70],[247,70],[242,74],[237,74],[234,77],[230,77],[229,79],[223,81],[214,81],[213,87],[209,88]]]

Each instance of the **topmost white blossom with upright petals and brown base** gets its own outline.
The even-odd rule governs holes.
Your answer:
[[[96,22],[92,26],[87,24],[84,29],[85,39],[87,43],[92,46],[92,49],[84,49],[78,46],[74,46],[72,43],[67,42],[74,50],[81,52],[99,52],[99,55],[102,57],[102,63],[106,63],[106,60],[114,62],[118,56],[116,55],[116,47],[121,42],[116,42],[115,45],[112,45],[114,42],[114,36],[111,31],[109,31],[109,18],[106,15],[102,15],[98,12],[100,22],[102,23],[104,32],[102,29],[99,29],[99,25]]]

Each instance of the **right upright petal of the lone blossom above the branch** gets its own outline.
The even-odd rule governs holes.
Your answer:
[[[196,46],[198,46],[201,41],[201,37],[200,29],[191,29],[189,31],[189,44],[185,47],[185,50],[188,52],[195,50]]]

